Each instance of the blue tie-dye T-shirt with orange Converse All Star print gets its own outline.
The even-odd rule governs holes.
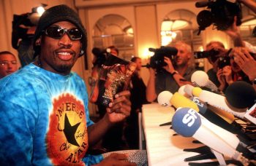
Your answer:
[[[29,64],[0,79],[0,165],[91,165],[86,86]],[[86,156],[85,156],[86,155]]]

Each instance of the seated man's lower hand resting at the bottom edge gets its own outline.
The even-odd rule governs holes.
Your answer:
[[[135,166],[136,164],[134,162],[128,162],[127,161],[127,154],[117,154],[113,153],[110,154],[108,157],[102,160],[102,162],[99,162],[95,166],[105,166],[105,165],[121,165],[121,166]]]

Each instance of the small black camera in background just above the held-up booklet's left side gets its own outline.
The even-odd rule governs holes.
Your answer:
[[[105,63],[109,53],[108,49],[101,49],[99,47],[94,47],[91,52],[96,57],[96,60],[93,63],[94,66],[102,66]]]

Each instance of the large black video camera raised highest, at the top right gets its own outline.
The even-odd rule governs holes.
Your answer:
[[[236,25],[241,25],[241,4],[238,1],[231,2],[227,0],[208,0],[197,1],[195,7],[207,7],[208,10],[203,10],[197,15],[197,24],[199,31],[203,31],[209,25],[213,24],[217,30],[227,30],[234,22],[236,16]]]

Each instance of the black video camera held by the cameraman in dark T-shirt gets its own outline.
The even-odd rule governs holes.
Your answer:
[[[164,61],[164,57],[170,58],[170,60],[174,60],[175,55],[177,55],[178,50],[175,47],[160,47],[157,49],[149,48],[150,52],[154,52],[154,55],[150,58],[150,63],[148,67],[156,68],[157,70],[161,70],[163,66],[167,64]]]

